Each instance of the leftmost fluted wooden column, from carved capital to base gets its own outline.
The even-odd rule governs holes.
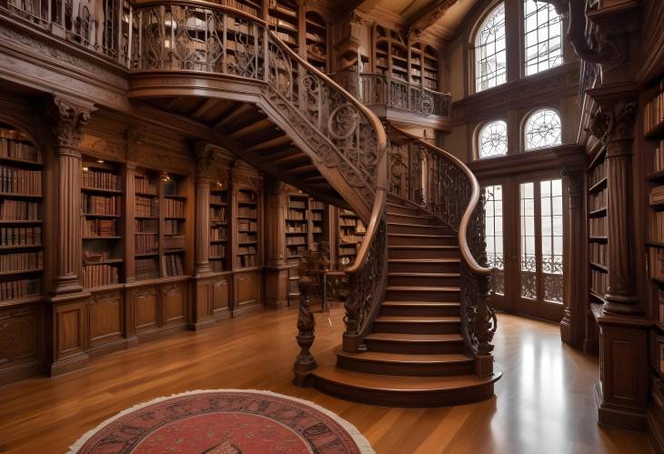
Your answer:
[[[55,152],[55,273],[53,293],[73,293],[81,287],[81,153],[78,146],[93,110],[77,101],[55,96],[48,108]]]

